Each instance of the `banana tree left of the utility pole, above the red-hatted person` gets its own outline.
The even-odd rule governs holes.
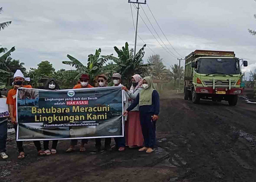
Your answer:
[[[90,75],[90,78],[91,78],[90,84],[93,84],[95,76],[97,76],[102,72],[103,65],[107,62],[110,56],[113,55],[112,54],[109,56],[104,56],[104,58],[103,56],[101,56],[101,58],[99,58],[100,54],[101,54],[101,48],[96,50],[94,55],[93,54],[88,55],[87,66],[85,66],[76,58],[70,55],[67,55],[70,61],[63,61],[62,63],[75,67],[76,70],[66,70],[66,71],[63,71],[63,74],[67,76],[76,75],[75,79],[78,80],[82,74],[86,73]]]

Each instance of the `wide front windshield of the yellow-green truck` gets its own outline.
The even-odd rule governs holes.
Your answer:
[[[230,58],[201,58],[197,72],[201,74],[240,74],[239,60]]]

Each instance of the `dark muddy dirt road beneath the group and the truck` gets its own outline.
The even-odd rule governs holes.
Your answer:
[[[85,153],[67,154],[69,142],[60,141],[58,154],[38,157],[33,143],[25,142],[27,157],[21,161],[12,133],[9,158],[0,159],[0,181],[255,181],[255,118],[256,104],[242,98],[235,107],[197,105],[182,94],[165,93],[154,153],[96,153],[91,139]]]

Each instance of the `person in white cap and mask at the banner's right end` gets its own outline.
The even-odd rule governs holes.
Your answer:
[[[114,86],[121,86],[123,87],[123,85],[121,84],[121,75],[119,73],[114,73],[112,76],[112,81],[114,83]],[[123,98],[124,98],[124,110],[126,110],[128,108],[128,99],[127,99],[127,94],[124,90],[122,90],[122,94],[123,94]],[[127,116],[125,116],[124,121],[127,120]],[[125,137],[116,137],[114,138],[116,145],[112,147],[113,148],[118,148],[118,151],[124,151],[125,150]]]

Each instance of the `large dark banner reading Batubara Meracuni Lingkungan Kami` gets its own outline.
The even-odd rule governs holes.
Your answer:
[[[121,87],[19,88],[17,141],[123,137]]]

